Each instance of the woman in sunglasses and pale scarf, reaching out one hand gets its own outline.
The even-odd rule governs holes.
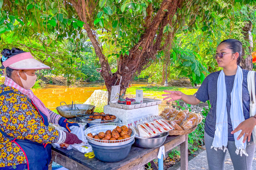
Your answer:
[[[205,120],[204,141],[209,170],[223,170],[228,149],[235,170],[250,170],[255,151],[251,136],[256,117],[250,118],[248,70],[239,64],[242,43],[235,39],[222,41],[214,59],[221,71],[209,74],[194,95],[165,91],[165,99],[183,100],[192,105],[210,100],[211,109]],[[247,139],[247,141],[246,141]]]

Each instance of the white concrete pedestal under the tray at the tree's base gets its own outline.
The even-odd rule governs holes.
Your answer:
[[[104,113],[115,115],[116,117],[119,118],[118,123],[128,125],[127,123],[128,119],[133,119],[133,118],[148,115],[148,114],[153,114],[155,116],[158,116],[158,105],[148,106],[148,107],[138,108],[138,109],[131,109],[131,110],[114,108],[114,107],[110,107],[109,105],[106,105],[104,106]]]

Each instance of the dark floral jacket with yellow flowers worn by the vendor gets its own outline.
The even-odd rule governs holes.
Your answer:
[[[41,115],[29,102],[29,98],[17,89],[0,86],[0,129],[17,139],[28,139],[38,143],[56,143],[59,131],[47,127]],[[0,167],[27,163],[19,146],[0,133]]]

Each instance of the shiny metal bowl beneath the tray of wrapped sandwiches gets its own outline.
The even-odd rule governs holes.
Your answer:
[[[135,142],[134,145],[137,147],[142,148],[154,148],[161,146],[164,141],[166,140],[166,137],[169,135],[169,132],[161,133],[160,135],[157,135],[155,137],[147,138],[147,139],[141,139],[136,138],[135,136]]]

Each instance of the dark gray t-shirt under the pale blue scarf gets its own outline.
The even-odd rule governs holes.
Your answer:
[[[250,96],[247,86],[247,74],[248,70],[243,69],[243,87],[242,87],[242,100],[243,100],[243,112],[244,119],[250,117]],[[219,77],[220,71],[209,74],[203,81],[201,87],[194,94],[194,96],[202,101],[206,102],[210,100],[211,109],[205,120],[205,132],[214,137],[215,125],[216,125],[216,103],[217,103],[217,80]],[[228,140],[235,141],[234,135],[231,134],[233,130],[231,119],[230,119],[230,106],[231,106],[231,91],[233,89],[235,75],[225,76],[226,90],[227,90],[227,112],[228,112]],[[256,80],[256,76],[255,76]]]

